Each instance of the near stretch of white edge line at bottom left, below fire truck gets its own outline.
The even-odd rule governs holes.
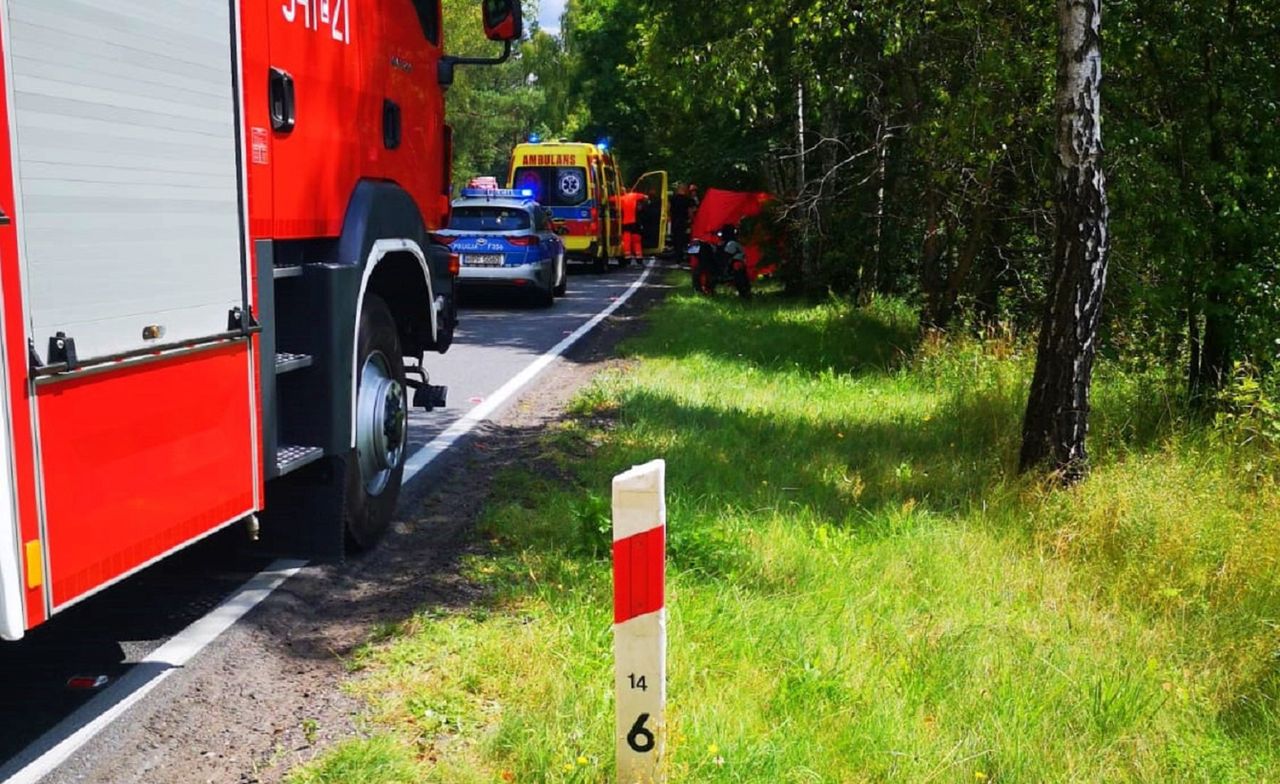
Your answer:
[[[54,772],[81,747],[186,666],[205,646],[230,629],[303,566],[306,561],[280,560],[256,574],[212,612],[156,648],[132,666],[120,680],[109,685],[101,694],[41,735],[23,753],[10,760],[0,769],[0,780],[8,784],[36,784]]]

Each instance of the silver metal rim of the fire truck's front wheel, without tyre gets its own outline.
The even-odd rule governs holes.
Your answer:
[[[365,360],[356,398],[356,452],[365,491],[376,496],[387,488],[392,471],[404,457],[408,402],[404,387],[392,374],[381,351]]]

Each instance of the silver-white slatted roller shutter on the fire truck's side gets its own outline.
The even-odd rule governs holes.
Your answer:
[[[58,332],[81,360],[225,332],[243,304],[233,4],[6,5],[36,350]]]

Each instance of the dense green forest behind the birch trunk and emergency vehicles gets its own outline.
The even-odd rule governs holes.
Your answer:
[[[479,4],[445,0],[451,49]],[[530,19],[538,17],[531,8]],[[457,179],[608,138],[630,174],[781,197],[792,291],[1029,333],[1055,238],[1052,5],[570,0],[451,94]],[[1280,357],[1280,5],[1115,0],[1103,20],[1111,275],[1101,351],[1213,401]]]

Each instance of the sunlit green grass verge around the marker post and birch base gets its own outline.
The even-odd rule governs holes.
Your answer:
[[[612,780],[607,493],[653,457],[672,781],[1280,780],[1270,459],[1103,365],[1092,478],[1020,479],[1030,357],[915,334],[672,297],[502,478],[465,566],[490,600],[371,642],[376,735],[294,781]]]

